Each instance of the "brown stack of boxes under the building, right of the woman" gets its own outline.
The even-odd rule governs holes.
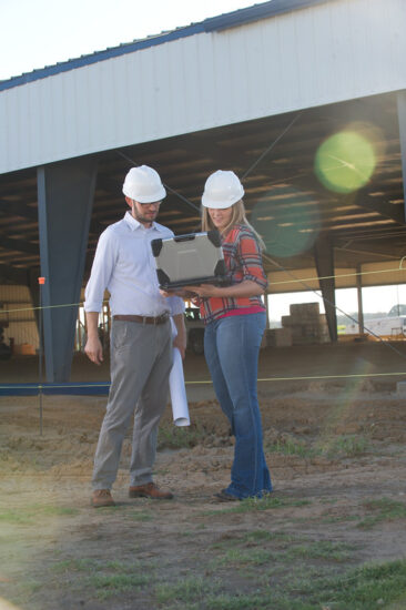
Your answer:
[[[328,326],[318,303],[298,303],[290,307],[291,315],[282,316],[282,326],[291,328],[293,345],[328,343]]]

